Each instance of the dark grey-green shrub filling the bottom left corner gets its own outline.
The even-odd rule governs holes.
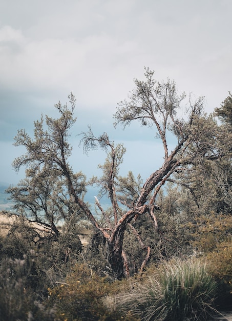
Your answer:
[[[42,291],[36,292],[33,259],[5,258],[0,265],[0,320],[53,320],[53,309],[45,308]],[[40,294],[40,295],[38,295]],[[39,297],[40,296],[40,297]]]

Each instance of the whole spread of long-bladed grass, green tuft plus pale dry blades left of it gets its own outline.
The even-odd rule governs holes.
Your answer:
[[[114,307],[144,321],[207,320],[215,314],[216,293],[217,283],[203,259],[176,258],[116,296]]]

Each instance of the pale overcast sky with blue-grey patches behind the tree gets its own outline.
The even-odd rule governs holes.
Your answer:
[[[96,172],[106,155],[83,155],[78,133],[91,125],[127,149],[121,174],[149,176],[162,159],[155,132],[140,125],[113,128],[117,103],[143,79],[144,66],[179,93],[205,96],[213,112],[232,90],[231,0],[1,0],[0,182],[16,184],[24,171],[11,166],[23,149],[17,130],[33,134],[41,113],[77,98],[72,129],[75,171]]]

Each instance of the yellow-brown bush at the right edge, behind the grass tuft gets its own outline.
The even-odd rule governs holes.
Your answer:
[[[195,225],[189,227],[193,231],[193,246],[208,259],[210,273],[219,285],[217,304],[222,309],[231,306],[232,216],[211,212],[196,218]]]

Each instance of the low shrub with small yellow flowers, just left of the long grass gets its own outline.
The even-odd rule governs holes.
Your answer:
[[[116,282],[116,289],[118,282]],[[103,298],[114,291],[113,284],[106,278],[95,274],[85,264],[76,265],[66,278],[66,283],[54,289],[48,289],[50,304],[56,306],[56,320],[121,320],[121,315],[109,310]],[[132,321],[133,318],[123,318]],[[138,319],[137,319],[138,320]]]

